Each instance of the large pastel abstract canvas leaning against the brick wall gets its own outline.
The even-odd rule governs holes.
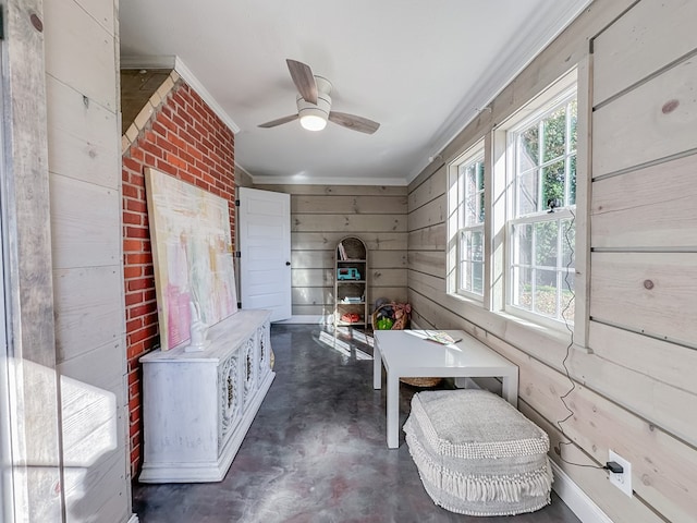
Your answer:
[[[237,312],[230,215],[225,199],[155,169],[145,185],[167,351],[188,343],[193,317],[212,326]]]

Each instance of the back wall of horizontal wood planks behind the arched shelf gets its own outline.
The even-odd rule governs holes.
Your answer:
[[[406,300],[406,187],[261,185],[291,195],[293,316],[321,320],[333,312],[337,243],[347,235],[368,246],[368,301]]]

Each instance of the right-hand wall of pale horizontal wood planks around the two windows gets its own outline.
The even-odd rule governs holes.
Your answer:
[[[415,320],[463,328],[519,366],[521,410],[549,433],[555,463],[616,523],[697,521],[695,20],[693,0],[594,2],[442,153],[447,165],[482,136],[496,141],[497,122],[579,64],[579,108],[592,115],[579,121],[588,130],[579,148],[585,139],[589,151],[579,180],[589,194],[579,195],[587,204],[577,215],[589,245],[577,281],[590,277],[580,346],[566,362],[568,439],[558,425],[568,414],[560,400],[571,386],[567,339],[448,296],[447,167],[409,185]],[[609,449],[632,463],[632,498],[606,471],[567,463],[602,465]]]

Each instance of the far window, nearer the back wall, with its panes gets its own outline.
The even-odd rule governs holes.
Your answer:
[[[450,272],[451,293],[481,300],[484,295],[485,246],[484,148],[465,154],[450,167],[451,219],[449,238],[454,246]]]

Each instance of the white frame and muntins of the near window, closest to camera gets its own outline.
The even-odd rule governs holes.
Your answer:
[[[535,104],[535,107],[531,110],[527,110],[527,115],[524,119],[519,119],[515,124],[510,125],[506,129],[506,181],[508,181],[508,216],[505,223],[505,234],[506,234],[506,250],[505,250],[505,262],[508,270],[504,276],[505,280],[505,312],[524,318],[526,320],[533,321],[535,324],[543,325],[547,327],[551,327],[554,329],[565,329],[573,328],[574,318],[573,316],[565,314],[564,318],[561,316],[551,317],[545,315],[542,313],[535,312],[535,296],[536,296],[536,278],[540,270],[553,270],[555,272],[555,288],[557,288],[557,303],[555,311],[560,314],[564,314],[566,311],[564,308],[564,304],[562,303],[562,295],[565,290],[571,285],[571,290],[574,294],[575,287],[575,268],[574,264],[567,266],[567,262],[563,257],[564,245],[566,242],[571,241],[571,252],[572,255],[575,254],[575,233],[573,238],[567,233],[559,233],[558,227],[558,238],[557,238],[557,263],[554,267],[543,267],[535,264],[535,260],[530,260],[529,264],[521,264],[515,256],[515,250],[517,248],[517,244],[514,236],[514,229],[524,224],[533,224],[535,228],[535,223],[546,223],[550,221],[557,221],[559,224],[571,221],[572,224],[575,226],[575,203],[572,205],[566,205],[570,199],[570,184],[565,183],[565,194],[564,200],[562,202],[562,206],[555,208],[553,212],[549,212],[549,208],[546,209],[546,203],[541,202],[542,198],[542,182],[541,177],[538,179],[537,183],[537,199],[538,199],[538,208],[535,211],[528,212],[526,215],[516,216],[516,198],[518,197],[518,175],[517,175],[517,137],[521,132],[529,129],[530,124],[536,121],[543,120],[547,115],[551,114],[560,107],[567,105],[570,101],[577,99],[577,88],[575,83],[575,75],[572,77],[574,83],[571,87],[564,88],[561,93],[557,90],[555,95],[545,97],[543,100]],[[539,100],[539,99],[538,99]],[[577,112],[578,120],[578,112]],[[570,122],[568,119],[566,121],[566,135],[568,136],[570,131]],[[573,157],[576,158],[576,190],[575,194],[578,192],[578,124],[576,126],[576,149],[573,151]],[[541,136],[540,136],[541,139]],[[568,147],[568,138],[565,139],[565,149],[564,149],[564,161],[565,161],[565,178],[567,180],[568,177],[568,168],[572,157],[572,151]],[[554,160],[559,161],[559,160]],[[543,166],[552,165],[553,161],[550,160],[548,162],[538,161],[536,169],[541,169]],[[542,207],[545,205],[545,207]],[[535,242],[535,235],[533,235],[531,242]],[[535,244],[531,246],[531,252],[535,254]],[[530,309],[526,309],[518,305],[515,305],[516,292],[518,291],[518,284],[516,279],[516,269],[526,268],[530,270],[530,294],[531,294],[531,303]],[[575,305],[575,304],[574,304]],[[567,312],[566,312],[567,313]]]

